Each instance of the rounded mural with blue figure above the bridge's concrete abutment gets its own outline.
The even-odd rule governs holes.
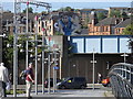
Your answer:
[[[59,20],[54,23],[54,28],[63,35],[78,35],[81,32],[80,19],[75,13],[60,13]]]

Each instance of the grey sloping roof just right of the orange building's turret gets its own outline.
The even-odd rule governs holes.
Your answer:
[[[120,21],[121,21],[121,19],[119,19],[119,18],[105,18],[105,19],[101,20],[98,24],[95,24],[95,26],[115,25]]]

